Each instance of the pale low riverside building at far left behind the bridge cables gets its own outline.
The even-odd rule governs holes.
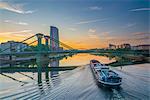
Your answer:
[[[22,52],[29,48],[28,44],[16,41],[8,41],[0,44],[0,50],[4,53]]]

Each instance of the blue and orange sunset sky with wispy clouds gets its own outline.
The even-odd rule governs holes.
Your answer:
[[[0,0],[0,43],[59,28],[76,48],[149,42],[149,0]]]

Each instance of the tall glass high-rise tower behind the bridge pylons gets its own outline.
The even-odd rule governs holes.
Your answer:
[[[58,28],[50,26],[50,50],[59,50],[59,32]]]

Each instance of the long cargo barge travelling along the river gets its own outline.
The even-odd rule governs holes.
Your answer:
[[[90,66],[97,82],[107,86],[119,86],[122,78],[108,66],[101,64],[97,60],[91,60]]]

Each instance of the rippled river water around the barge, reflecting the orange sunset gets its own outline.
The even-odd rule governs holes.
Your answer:
[[[43,100],[149,100],[150,64],[128,65],[112,68],[123,78],[119,88],[99,87],[89,68],[89,61],[97,59],[110,63],[115,59],[90,54],[77,54],[54,63],[60,66],[80,65],[63,72],[49,72],[48,80],[42,73],[42,83],[37,84],[37,73],[4,73],[0,75],[1,99]],[[54,64],[52,64],[54,65]],[[6,77],[11,76],[16,80]],[[26,82],[26,83],[25,83]]]

